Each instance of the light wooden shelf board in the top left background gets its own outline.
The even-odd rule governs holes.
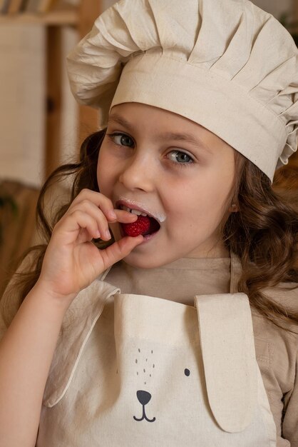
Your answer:
[[[77,9],[49,11],[46,14],[3,14],[0,15],[0,24],[78,26],[79,14]]]

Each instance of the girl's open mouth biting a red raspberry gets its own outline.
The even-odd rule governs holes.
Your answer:
[[[154,217],[148,216],[148,214],[145,214],[140,210],[130,209],[124,205],[120,205],[119,208],[138,216],[138,220],[131,224],[120,224],[125,236],[136,237],[139,236],[139,234],[148,236],[157,233],[160,229],[160,224]]]

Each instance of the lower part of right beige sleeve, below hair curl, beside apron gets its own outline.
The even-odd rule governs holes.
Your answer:
[[[260,315],[255,314],[253,322],[257,363],[277,428],[277,446],[298,447],[298,334]],[[292,329],[297,332],[297,327]]]

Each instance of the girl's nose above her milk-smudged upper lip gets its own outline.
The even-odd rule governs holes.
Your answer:
[[[156,169],[154,165],[154,161],[150,157],[132,157],[123,166],[119,181],[125,186],[125,189],[153,191]]]

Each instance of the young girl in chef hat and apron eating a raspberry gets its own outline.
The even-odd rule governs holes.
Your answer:
[[[245,0],[122,0],[74,49],[102,129],[2,300],[1,446],[298,446],[297,54]]]

